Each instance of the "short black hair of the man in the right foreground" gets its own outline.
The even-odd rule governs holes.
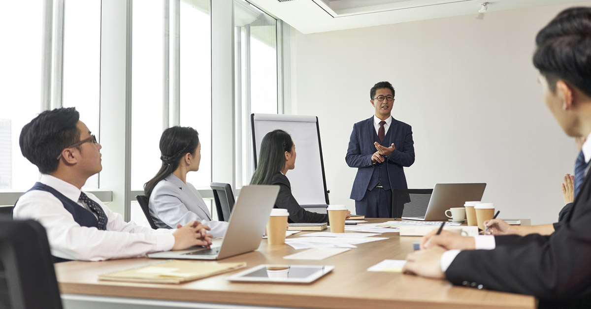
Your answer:
[[[564,80],[591,97],[591,8],[560,12],[535,37],[534,66],[554,92]]]

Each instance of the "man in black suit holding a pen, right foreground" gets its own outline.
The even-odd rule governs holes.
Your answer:
[[[591,134],[591,8],[561,12],[536,37],[544,101],[569,136]],[[591,141],[582,147],[591,160]],[[591,304],[591,176],[572,211],[548,236],[427,235],[404,271],[453,284],[534,295],[541,307]],[[489,250],[474,250],[489,249]]]

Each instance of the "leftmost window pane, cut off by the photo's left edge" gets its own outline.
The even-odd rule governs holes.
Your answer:
[[[38,177],[21,155],[18,136],[40,112],[42,24],[43,2],[0,3],[0,189],[28,189]]]

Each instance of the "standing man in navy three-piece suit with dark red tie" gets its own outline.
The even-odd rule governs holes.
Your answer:
[[[379,82],[369,90],[375,115],[353,125],[345,161],[357,168],[350,198],[366,217],[392,217],[393,188],[407,188],[403,167],[414,163],[413,130],[391,115],[394,87]]]

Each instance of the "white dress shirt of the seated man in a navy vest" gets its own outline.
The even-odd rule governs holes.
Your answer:
[[[66,181],[51,175],[41,175],[40,183],[46,184],[82,207],[80,190]],[[102,207],[108,218],[106,230],[80,226],[63,203],[47,191],[32,190],[22,194],[14,207],[14,219],[37,220],[47,232],[51,254],[59,258],[103,261],[113,258],[144,256],[147,253],[168,251],[174,246],[174,230],[138,226],[125,222],[121,214],[112,212],[93,194],[89,199]],[[96,216],[96,215],[95,215]]]

